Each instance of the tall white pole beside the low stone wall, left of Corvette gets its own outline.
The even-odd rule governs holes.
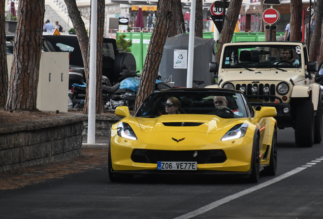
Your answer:
[[[90,28],[90,79],[88,93],[88,126],[87,143],[95,143],[95,78],[96,78],[96,29],[98,21],[98,2],[91,1],[91,28]]]

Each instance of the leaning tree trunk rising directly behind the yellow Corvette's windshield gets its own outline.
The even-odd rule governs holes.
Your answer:
[[[163,55],[169,24],[172,19],[172,0],[159,0],[157,3],[156,26],[152,31],[146,61],[142,70],[134,112],[142,101],[154,92],[158,68]]]

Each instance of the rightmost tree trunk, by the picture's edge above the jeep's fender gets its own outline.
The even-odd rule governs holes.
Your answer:
[[[321,44],[320,44],[320,35],[322,33],[322,19],[323,19],[323,3],[322,1],[317,1],[314,11],[314,28],[311,35],[311,42],[309,48],[309,60],[310,61],[317,61],[320,63],[320,59],[317,58],[317,55],[320,54]],[[311,26],[309,26],[309,31],[311,31]]]

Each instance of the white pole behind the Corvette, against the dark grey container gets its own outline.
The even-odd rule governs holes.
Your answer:
[[[187,79],[186,79],[187,88],[192,88],[192,85],[193,85],[195,5],[196,5],[196,0],[192,0],[190,4],[190,19],[189,19],[188,57],[187,57],[188,63],[187,63]]]

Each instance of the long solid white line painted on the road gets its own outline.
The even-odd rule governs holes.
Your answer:
[[[252,193],[254,191],[257,191],[257,190],[263,189],[263,188],[265,188],[267,186],[270,186],[270,185],[272,185],[272,184],[274,184],[274,183],[276,183],[276,182],[278,182],[278,181],[280,181],[282,179],[285,179],[285,178],[287,178],[289,176],[292,176],[292,175],[294,175],[294,174],[296,174],[298,172],[301,172],[302,170],[305,170],[306,168],[307,167],[298,167],[298,168],[296,168],[294,170],[286,172],[286,173],[284,173],[284,174],[282,174],[280,176],[277,176],[277,177],[275,177],[273,179],[265,181],[262,184],[259,184],[257,186],[254,186],[254,187],[251,187],[249,189],[243,190],[243,191],[238,192],[236,194],[233,194],[231,196],[222,198],[220,200],[212,202],[211,204],[205,205],[204,207],[201,207],[201,208],[199,208],[199,209],[197,209],[195,211],[191,211],[189,213],[186,213],[186,214],[181,215],[179,217],[176,217],[174,219],[187,219],[187,218],[195,217],[195,216],[200,215],[202,213],[205,213],[205,212],[207,212],[209,210],[212,210],[212,209],[214,209],[214,208],[216,208],[216,207],[218,207],[218,206],[220,206],[222,204],[230,202],[230,201],[232,201],[234,199],[240,198],[240,197],[242,197],[244,195],[247,195],[247,194]]]

